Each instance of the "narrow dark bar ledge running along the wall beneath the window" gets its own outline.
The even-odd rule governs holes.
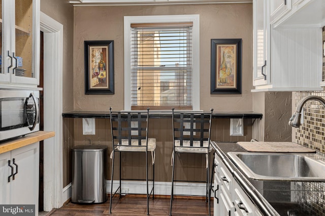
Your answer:
[[[109,118],[109,111],[71,111],[62,113],[63,118]],[[171,111],[150,111],[150,118],[171,118]],[[263,114],[257,112],[217,112],[213,111],[212,118],[259,118]]]

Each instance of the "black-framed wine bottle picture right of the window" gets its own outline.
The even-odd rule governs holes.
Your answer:
[[[211,39],[211,94],[241,94],[242,39]]]

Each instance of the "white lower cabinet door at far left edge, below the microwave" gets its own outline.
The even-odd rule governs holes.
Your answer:
[[[8,177],[11,175],[11,168],[8,164],[10,152],[0,154],[0,203],[9,204],[9,184]]]

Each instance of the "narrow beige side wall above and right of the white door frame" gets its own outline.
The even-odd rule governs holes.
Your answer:
[[[68,0],[41,0],[41,12],[63,25],[63,112],[73,104],[73,6]]]

